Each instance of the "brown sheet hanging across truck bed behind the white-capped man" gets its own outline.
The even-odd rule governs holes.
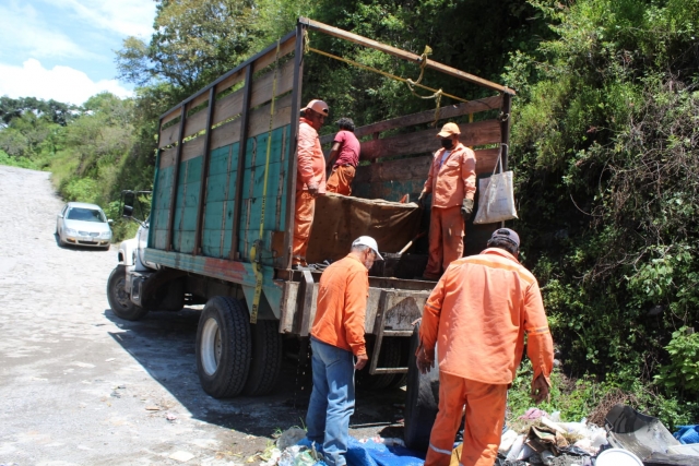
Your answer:
[[[398,252],[417,235],[422,213],[415,203],[320,195],[306,259],[309,263],[342,259],[352,241],[363,235],[376,239],[380,252]]]

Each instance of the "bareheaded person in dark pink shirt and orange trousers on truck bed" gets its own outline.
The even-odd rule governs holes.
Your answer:
[[[337,120],[337,127],[340,131],[335,134],[328,156],[328,165],[332,166],[332,172],[328,179],[328,192],[350,195],[352,180],[359,165],[360,144],[354,135],[354,121],[351,118],[341,118]]]

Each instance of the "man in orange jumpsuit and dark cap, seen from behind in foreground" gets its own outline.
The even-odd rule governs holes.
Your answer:
[[[464,405],[461,466],[495,463],[525,333],[532,397],[537,404],[548,397],[554,348],[538,283],[517,260],[517,232],[500,228],[487,246],[451,263],[423,311],[420,372],[434,367],[435,346],[439,357],[439,413],[425,466],[449,466]]]

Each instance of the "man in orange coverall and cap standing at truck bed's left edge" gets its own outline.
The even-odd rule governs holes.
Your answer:
[[[320,147],[318,130],[328,117],[328,104],[313,99],[301,109],[296,150],[296,211],[294,214],[294,244],[292,267],[304,268],[308,238],[313,223],[316,198],[325,193],[325,157]]]

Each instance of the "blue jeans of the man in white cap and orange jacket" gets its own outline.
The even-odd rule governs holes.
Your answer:
[[[354,355],[310,338],[313,391],[306,415],[306,435],[322,444],[328,466],[345,466],[350,417],[354,413]]]

